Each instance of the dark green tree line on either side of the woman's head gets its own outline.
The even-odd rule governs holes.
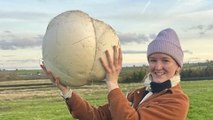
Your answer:
[[[141,82],[148,73],[148,66],[125,67],[121,72],[120,82]],[[203,63],[185,63],[181,71],[181,80],[212,80],[213,61]]]

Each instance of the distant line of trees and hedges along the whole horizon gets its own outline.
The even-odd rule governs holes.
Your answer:
[[[148,73],[148,66],[123,67],[119,81],[124,83],[141,82]],[[0,80],[46,79],[42,70],[1,70]],[[213,61],[185,63],[181,71],[181,80],[213,80]]]

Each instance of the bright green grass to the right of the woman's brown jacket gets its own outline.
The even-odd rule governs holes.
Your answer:
[[[190,98],[188,120],[211,120],[213,118],[213,81],[188,81],[182,87]]]

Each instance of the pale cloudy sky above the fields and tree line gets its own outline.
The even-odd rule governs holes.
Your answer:
[[[213,60],[212,0],[0,0],[0,69],[39,68],[50,20],[81,10],[117,32],[124,65],[146,64],[147,44],[173,28],[184,62]]]

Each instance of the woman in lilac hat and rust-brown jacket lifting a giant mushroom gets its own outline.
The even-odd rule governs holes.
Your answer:
[[[161,31],[148,45],[149,74],[145,87],[130,92],[126,97],[118,85],[122,68],[121,49],[113,47],[113,57],[106,51],[107,61],[100,58],[106,71],[108,104],[95,108],[83,100],[59,77],[41,65],[47,76],[62,91],[68,109],[80,120],[185,120],[189,99],[180,87],[180,70],[183,66],[183,51],[172,29]]]

